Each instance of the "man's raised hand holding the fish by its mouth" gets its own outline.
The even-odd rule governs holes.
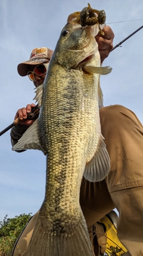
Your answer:
[[[101,63],[108,57],[110,51],[113,49],[114,33],[110,26],[105,26],[103,29],[104,35],[99,32],[95,39],[98,43],[98,50],[100,52]]]

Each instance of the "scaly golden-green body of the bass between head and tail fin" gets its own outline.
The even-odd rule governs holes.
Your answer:
[[[43,216],[46,212],[46,221],[48,221],[48,216],[51,218],[51,213],[55,213],[52,215],[54,224],[51,232],[56,235],[74,234],[80,219],[83,219],[79,205],[80,181],[85,170],[86,158],[89,158],[87,151],[90,142],[93,141],[93,131],[95,135],[97,126],[100,127],[97,112],[98,101],[95,97],[98,85],[92,85],[92,75],[88,75],[85,80],[80,71],[65,71],[65,68],[61,68],[61,81],[58,68],[56,64],[54,68],[49,67],[49,73],[50,70],[52,73],[45,82],[43,105],[39,117],[41,146],[48,155],[44,203],[46,209],[43,211]],[[97,121],[94,121],[96,112]],[[89,133],[88,137],[87,133]],[[98,133],[100,136],[100,132]],[[45,134],[47,134],[47,139],[45,139]],[[93,156],[95,145],[89,151]],[[85,221],[83,223],[86,230]],[[88,236],[87,230],[86,235]]]

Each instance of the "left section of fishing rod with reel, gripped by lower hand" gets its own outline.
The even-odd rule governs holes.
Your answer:
[[[21,120],[20,118],[15,119],[14,122],[11,125],[8,125],[8,127],[6,127],[5,129],[3,129],[0,132],[0,136],[2,134],[4,134],[5,132],[7,132],[9,129],[13,128],[15,125],[18,125],[18,124],[20,124],[21,122],[23,122],[27,119],[29,119],[29,120],[37,119],[38,116],[39,116],[39,109],[40,108],[38,107],[38,105],[36,105],[35,107],[32,108],[32,111],[27,114],[26,119],[23,119],[23,120]]]

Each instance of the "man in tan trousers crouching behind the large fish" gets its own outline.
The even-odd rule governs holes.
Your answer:
[[[98,35],[96,37],[101,62],[113,48],[113,31],[106,26],[104,32],[104,36]],[[38,59],[38,55],[34,57]],[[46,60],[43,63],[46,63]],[[26,67],[29,66],[29,70],[26,72],[33,72],[35,86],[40,85],[42,76],[44,76],[43,71],[42,75],[38,76],[37,70],[34,70],[36,66],[33,64],[35,62],[30,65],[29,62],[23,62],[23,64],[27,65]],[[23,64],[18,65],[18,73],[21,76],[26,76],[27,73],[22,74],[20,70],[21,67],[24,72]],[[30,73],[28,74],[30,76]],[[33,106],[35,105],[28,104],[26,108],[17,111],[15,118],[19,117],[23,122],[11,130],[12,144],[15,144],[28,126],[32,124],[33,121],[24,121],[24,119],[27,118],[27,113],[31,111]],[[142,124],[132,111],[119,105],[103,107],[100,110],[100,119],[102,135],[105,138],[111,160],[110,173],[104,180],[96,183],[88,182],[83,178],[80,189],[80,206],[91,234],[95,231],[96,225],[94,224],[116,207],[119,210],[118,236],[128,250],[125,255],[143,255]],[[37,214],[31,220],[33,225]],[[27,225],[26,228],[27,230],[24,230],[26,233],[23,234],[25,243],[27,234],[29,237],[32,234],[32,227]],[[94,246],[95,241],[92,240],[92,242]]]

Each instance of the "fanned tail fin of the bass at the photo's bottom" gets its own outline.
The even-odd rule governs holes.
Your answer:
[[[38,217],[27,256],[94,256],[83,217],[68,233],[54,234],[48,226],[45,217]]]

